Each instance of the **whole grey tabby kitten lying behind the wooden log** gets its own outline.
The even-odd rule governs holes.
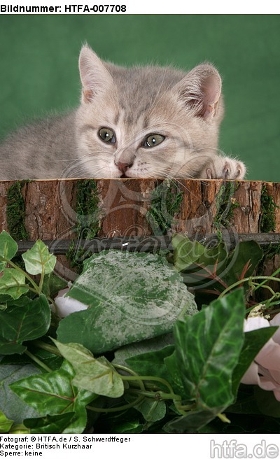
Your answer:
[[[22,178],[244,178],[218,154],[221,77],[211,64],[126,69],[85,45],[72,113],[21,127],[0,146],[1,180]]]

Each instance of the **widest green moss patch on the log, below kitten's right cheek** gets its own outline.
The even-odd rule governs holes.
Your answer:
[[[174,181],[165,180],[151,192],[151,209],[146,213],[153,234],[166,234],[180,211],[183,192]]]

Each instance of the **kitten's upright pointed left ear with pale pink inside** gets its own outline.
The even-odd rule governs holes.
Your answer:
[[[99,57],[85,45],[79,57],[80,80],[83,85],[83,102],[90,102],[94,96],[106,92],[113,85],[113,78]]]

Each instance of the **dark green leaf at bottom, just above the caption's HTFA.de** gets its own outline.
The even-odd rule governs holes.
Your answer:
[[[25,419],[25,426],[31,434],[61,434],[68,425],[73,423],[75,413],[57,414],[56,416],[44,416],[43,418]]]

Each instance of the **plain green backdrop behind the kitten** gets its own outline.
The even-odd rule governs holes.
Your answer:
[[[220,148],[248,179],[280,181],[279,15],[2,15],[0,135],[78,104],[78,53],[87,41],[116,64],[209,60],[223,77]]]

